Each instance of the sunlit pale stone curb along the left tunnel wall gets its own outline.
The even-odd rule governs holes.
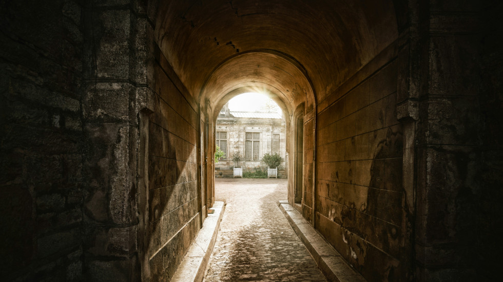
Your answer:
[[[224,202],[215,202],[212,210],[203,222],[203,227],[190,245],[171,282],[201,282],[206,272],[209,256],[217,241],[220,221],[225,210]]]

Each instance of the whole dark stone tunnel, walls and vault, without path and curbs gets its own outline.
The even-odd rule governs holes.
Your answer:
[[[498,1],[0,1],[5,281],[168,281],[215,202],[215,121],[261,92],[287,200],[367,281],[491,281]]]

